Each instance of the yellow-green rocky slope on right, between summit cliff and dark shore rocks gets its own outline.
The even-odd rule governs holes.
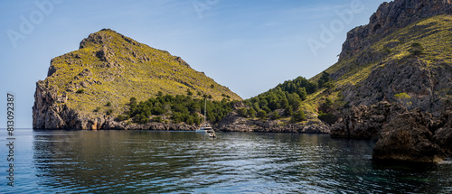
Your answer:
[[[381,100],[440,115],[452,98],[452,16],[437,15],[392,32],[331,73],[349,106]]]

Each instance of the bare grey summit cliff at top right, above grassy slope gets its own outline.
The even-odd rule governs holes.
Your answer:
[[[395,0],[383,3],[372,14],[369,24],[356,27],[347,33],[339,60],[363,51],[391,32],[439,14],[452,14],[451,0]]]

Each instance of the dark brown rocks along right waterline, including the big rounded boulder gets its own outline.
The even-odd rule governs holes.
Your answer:
[[[335,138],[377,139],[374,160],[439,162],[452,154],[452,111],[439,117],[380,102],[353,106],[332,126]]]

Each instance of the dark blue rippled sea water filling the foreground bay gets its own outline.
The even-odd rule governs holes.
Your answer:
[[[5,130],[4,130],[5,131]],[[452,164],[381,164],[325,134],[18,130],[2,193],[451,193]]]

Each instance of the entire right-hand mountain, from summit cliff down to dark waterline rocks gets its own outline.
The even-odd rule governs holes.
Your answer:
[[[395,0],[348,32],[339,61],[326,69],[334,91],[318,96],[344,105],[331,110],[332,136],[377,139],[377,160],[450,154],[451,14],[449,0]]]

